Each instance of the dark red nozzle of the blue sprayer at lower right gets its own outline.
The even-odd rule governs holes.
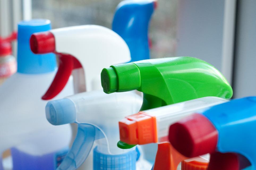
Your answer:
[[[217,140],[217,130],[202,114],[193,114],[169,128],[170,143],[186,157],[213,153]]]

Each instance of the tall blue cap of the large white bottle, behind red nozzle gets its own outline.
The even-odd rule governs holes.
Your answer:
[[[39,74],[54,71],[56,58],[53,53],[37,55],[32,53],[29,38],[33,33],[51,29],[50,20],[35,19],[21,21],[18,24],[18,72],[25,74]]]

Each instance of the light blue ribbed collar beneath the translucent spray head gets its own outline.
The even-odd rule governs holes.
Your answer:
[[[93,170],[130,170],[136,169],[136,150],[120,155],[100,153],[97,147],[93,150]]]

